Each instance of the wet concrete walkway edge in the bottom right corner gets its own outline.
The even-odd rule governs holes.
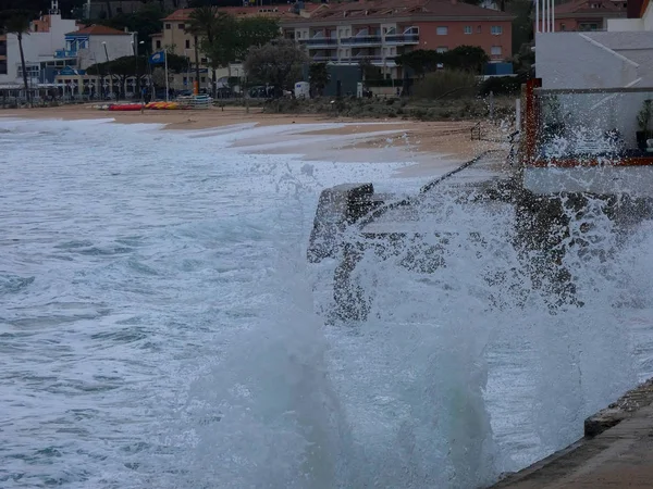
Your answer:
[[[584,434],[492,488],[653,488],[653,379],[587,418]]]

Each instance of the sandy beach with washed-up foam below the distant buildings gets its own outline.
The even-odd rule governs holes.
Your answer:
[[[202,111],[108,112],[91,105],[0,111],[1,117],[41,120],[113,118],[120,124],[163,124],[165,130],[201,130],[249,124],[285,126],[269,137],[239,141],[247,152],[303,154],[306,160],[412,163],[398,176],[429,176],[500,143],[472,141],[473,122],[353,120],[320,114],[269,114],[261,108]],[[326,125],[326,126],[325,126]],[[501,136],[501,135],[500,135]]]

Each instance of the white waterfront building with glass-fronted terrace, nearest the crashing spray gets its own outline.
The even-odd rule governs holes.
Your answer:
[[[525,188],[653,197],[650,0],[628,0],[630,18],[608,18],[603,32],[553,32],[552,2],[539,4],[546,30],[535,34],[540,164],[527,164]]]

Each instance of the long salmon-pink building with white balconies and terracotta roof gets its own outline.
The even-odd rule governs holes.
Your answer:
[[[513,55],[513,16],[456,0],[361,0],[328,4],[308,16],[284,18],[283,35],[305,47],[315,62],[382,67],[401,78],[394,59],[415,49],[445,52],[481,47],[491,60]]]

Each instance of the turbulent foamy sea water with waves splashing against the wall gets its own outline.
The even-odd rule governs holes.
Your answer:
[[[571,256],[586,306],[552,314],[510,213],[448,203],[483,243],[367,259],[370,318],[330,324],[320,190],[409,183],[230,148],[274,130],[0,118],[1,488],[475,488],[652,375],[648,225]]]

